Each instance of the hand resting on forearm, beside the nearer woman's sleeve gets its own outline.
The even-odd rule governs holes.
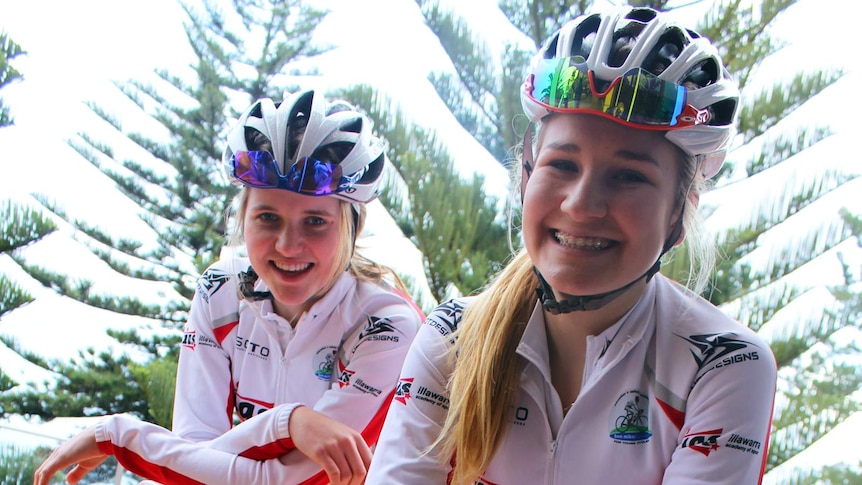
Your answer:
[[[305,406],[293,410],[288,428],[296,449],[323,468],[330,484],[363,483],[371,449],[356,430]]]

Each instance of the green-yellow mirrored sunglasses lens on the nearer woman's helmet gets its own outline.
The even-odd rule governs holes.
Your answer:
[[[528,94],[553,111],[594,111],[665,129],[698,124],[705,115],[686,105],[684,87],[640,68],[630,69],[598,93],[580,56],[541,61],[534,68],[532,83]]]

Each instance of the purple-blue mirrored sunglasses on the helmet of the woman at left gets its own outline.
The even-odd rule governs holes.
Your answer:
[[[233,176],[249,187],[285,189],[307,195],[327,195],[353,186],[355,178],[342,176],[341,166],[305,157],[282,175],[266,151],[238,151],[231,156]]]

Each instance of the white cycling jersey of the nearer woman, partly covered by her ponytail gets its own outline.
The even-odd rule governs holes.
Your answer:
[[[470,300],[443,303],[419,330],[367,484],[447,482],[451,457],[427,451],[449,406],[450,334]],[[551,384],[539,304],[517,353],[526,367],[510,424],[477,483],[759,483],[775,359],[756,333],[680,285],[656,275],[626,316],[588,339],[568,413]]]

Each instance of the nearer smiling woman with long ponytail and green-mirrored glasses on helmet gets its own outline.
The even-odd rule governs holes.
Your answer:
[[[651,9],[584,15],[521,100],[525,249],[428,316],[366,483],[758,483],[772,353],[658,273],[686,237],[711,269],[694,216],[739,102],[715,48]]]

